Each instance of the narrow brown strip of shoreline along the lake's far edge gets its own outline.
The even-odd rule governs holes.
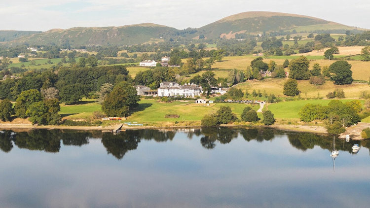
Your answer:
[[[118,126],[121,126],[122,123],[111,125],[111,126],[54,126],[54,125],[32,125],[32,124],[3,124],[0,123],[0,130],[34,130],[34,129],[59,129],[59,130],[77,130],[77,131],[114,131],[117,129]],[[194,126],[165,126],[165,127],[158,127],[158,126],[125,126],[123,125],[121,130],[140,130],[140,129],[171,129],[171,128],[201,128],[202,126],[194,125]],[[264,127],[264,128],[273,128],[278,130],[284,131],[292,131],[292,132],[307,132],[307,133],[314,133],[314,134],[328,134],[326,129],[322,126],[307,126],[307,125],[292,125],[292,124],[273,124],[271,126],[265,125],[221,125],[220,127]],[[341,135],[339,138],[343,139]],[[345,136],[344,136],[345,138]],[[351,135],[351,139],[353,140],[363,140],[359,135]]]

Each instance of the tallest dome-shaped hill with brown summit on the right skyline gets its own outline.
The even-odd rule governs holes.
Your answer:
[[[219,21],[208,24],[198,29],[197,35],[205,35],[207,38],[235,38],[236,34],[262,34],[263,32],[293,31],[317,32],[356,30],[358,28],[345,26],[339,23],[323,19],[288,14],[280,12],[243,12],[234,14]],[[361,30],[361,29],[360,29]]]

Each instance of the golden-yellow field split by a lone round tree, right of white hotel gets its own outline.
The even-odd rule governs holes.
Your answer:
[[[283,88],[284,82],[287,78],[273,78],[273,79],[264,79],[261,81],[249,80],[243,83],[236,85],[236,88],[239,88],[245,92],[248,90],[249,93],[252,93],[253,90],[265,90],[267,94],[275,94],[275,96],[283,97]],[[351,85],[334,85],[333,81],[327,80],[323,85],[312,85],[308,80],[299,80],[298,81],[298,90],[301,91],[300,96],[302,98],[317,98],[324,97],[335,89],[342,89],[347,98],[358,98],[361,91],[369,91],[370,87],[367,84],[353,83]]]

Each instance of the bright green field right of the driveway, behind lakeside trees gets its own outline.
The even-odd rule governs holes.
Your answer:
[[[343,103],[352,101],[349,99],[341,100]],[[331,100],[300,100],[280,102],[268,105],[268,109],[274,114],[275,118],[299,118],[298,112],[305,104],[321,104],[327,105]],[[363,103],[363,101],[361,101]]]

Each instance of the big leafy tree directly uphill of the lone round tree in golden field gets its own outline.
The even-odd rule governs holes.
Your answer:
[[[293,59],[289,64],[289,78],[296,80],[309,79],[311,76],[311,73],[308,70],[309,65],[310,61],[305,56]]]

